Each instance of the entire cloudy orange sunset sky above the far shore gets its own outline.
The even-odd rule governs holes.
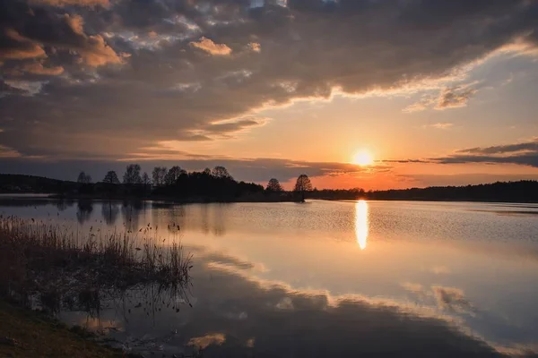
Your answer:
[[[538,179],[538,1],[4,0],[0,173]]]

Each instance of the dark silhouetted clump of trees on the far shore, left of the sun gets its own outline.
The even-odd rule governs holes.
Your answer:
[[[113,170],[98,183],[91,183],[85,172],[78,175],[79,192],[82,194],[107,194],[108,196],[158,196],[184,200],[305,200],[313,190],[308,175],[299,175],[292,192],[286,192],[276,178],[264,186],[236,181],[224,166],[205,168],[201,172],[187,172],[180,166],[155,166],[151,176],[142,172],[138,164],[126,166],[120,181]],[[263,195],[263,196],[262,196]]]

